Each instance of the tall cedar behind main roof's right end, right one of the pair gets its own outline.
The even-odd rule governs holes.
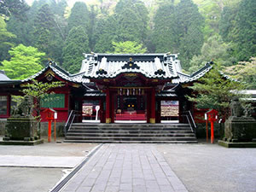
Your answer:
[[[176,8],[176,26],[179,35],[179,52],[183,68],[189,68],[193,55],[199,55],[204,42],[204,18],[191,0],[181,0]]]

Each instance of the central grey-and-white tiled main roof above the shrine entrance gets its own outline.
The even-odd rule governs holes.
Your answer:
[[[131,59],[130,59],[131,58]],[[177,55],[86,54],[80,73],[88,79],[115,78],[120,73],[141,73],[147,78],[177,78]]]

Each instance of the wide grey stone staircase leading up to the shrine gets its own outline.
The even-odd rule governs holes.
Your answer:
[[[64,143],[197,143],[189,124],[73,124]]]

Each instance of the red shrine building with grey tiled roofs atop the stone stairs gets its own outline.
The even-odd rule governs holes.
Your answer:
[[[57,111],[57,122],[66,122],[71,111],[79,114],[79,122],[87,123],[181,123],[188,111],[200,122],[204,112],[185,96],[191,94],[188,86],[211,68],[207,63],[196,73],[185,74],[175,54],[84,54],[76,74],[53,61],[28,79],[11,80],[1,72],[0,119],[10,116],[12,96],[21,95],[24,84],[37,79],[65,84],[49,95],[50,100],[41,101],[42,111]]]

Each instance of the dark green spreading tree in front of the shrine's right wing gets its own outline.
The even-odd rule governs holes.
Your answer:
[[[222,117],[229,113],[229,104],[234,96],[244,88],[236,81],[226,79],[215,66],[204,77],[189,87],[193,90],[192,96],[187,96],[190,102],[196,103],[196,108],[216,109]]]

